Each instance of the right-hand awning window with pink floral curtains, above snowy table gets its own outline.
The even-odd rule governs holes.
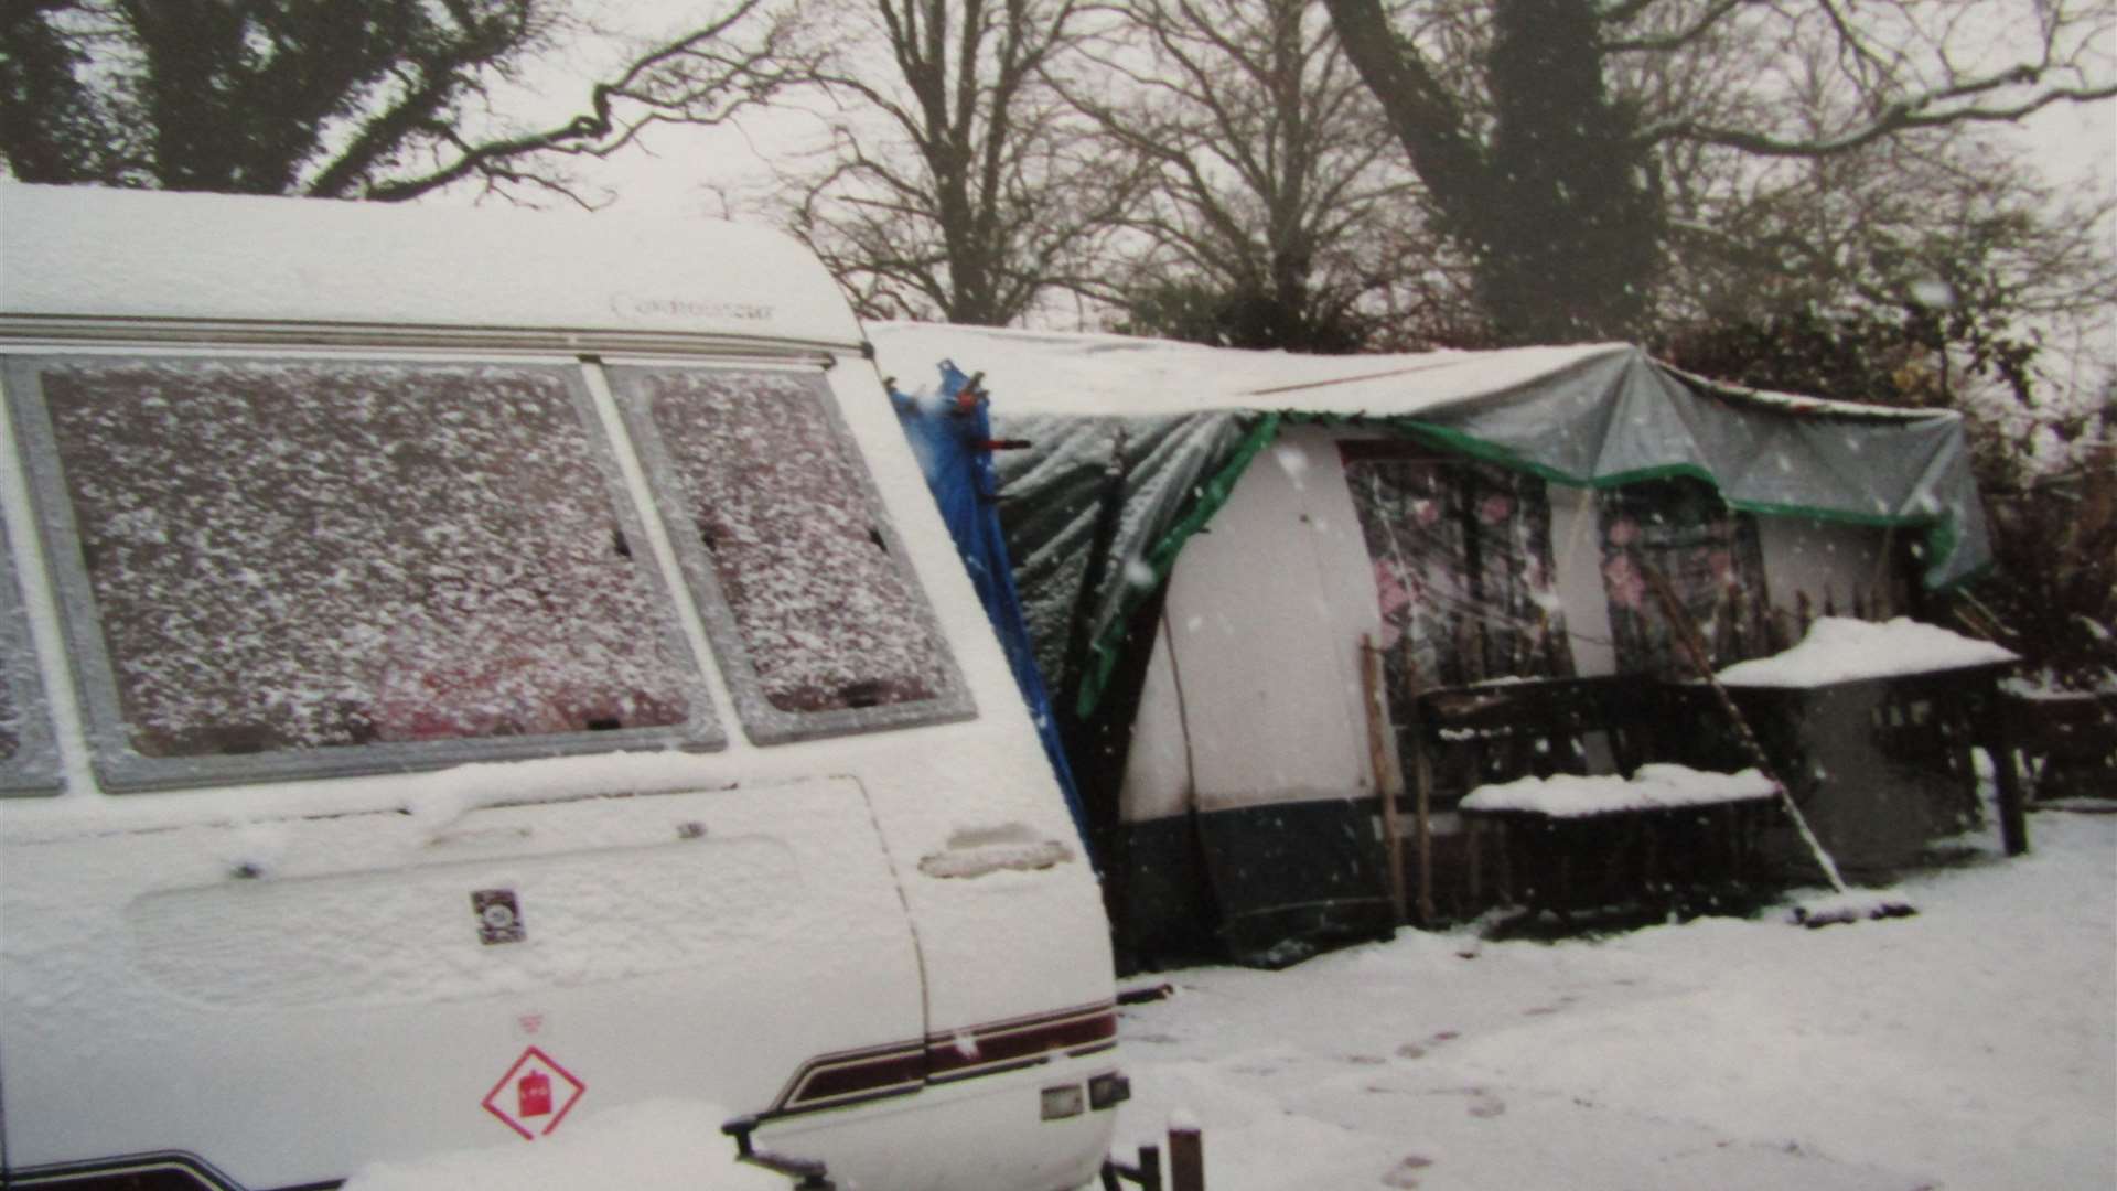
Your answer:
[[[1774,653],[1757,519],[1687,477],[1628,483],[1600,494],[1603,589],[1626,674],[1691,674],[1668,617],[1647,585],[1653,568],[1698,625],[1713,665]]]

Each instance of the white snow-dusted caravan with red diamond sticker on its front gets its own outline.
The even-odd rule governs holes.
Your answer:
[[[804,250],[6,186],[0,386],[0,1185],[1092,1178],[1094,873]]]

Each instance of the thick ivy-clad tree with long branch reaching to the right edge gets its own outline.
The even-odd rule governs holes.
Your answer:
[[[2117,93],[2094,0],[1325,6],[1509,337],[1636,333],[1666,220],[1691,214],[1668,186],[1700,165],[1740,178]]]

